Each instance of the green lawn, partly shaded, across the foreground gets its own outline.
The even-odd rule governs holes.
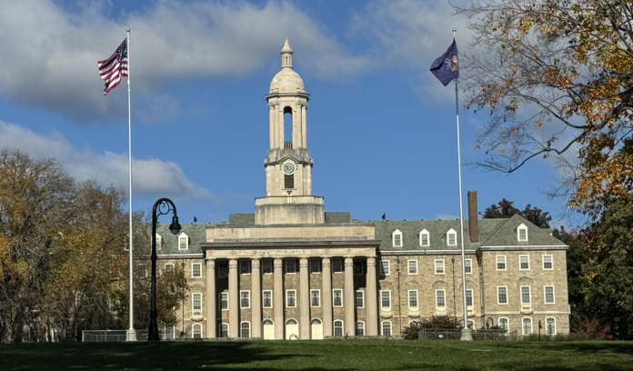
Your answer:
[[[403,340],[0,345],[0,370],[633,370],[629,342]]]

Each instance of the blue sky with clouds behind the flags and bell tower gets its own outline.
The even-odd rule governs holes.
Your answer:
[[[182,222],[252,213],[266,195],[264,95],[288,37],[311,95],[313,193],[359,220],[459,215],[455,92],[428,71],[467,22],[437,1],[0,0],[0,146],[56,157],[71,175],[127,187],[125,82],[107,96],[96,61],[131,28],[135,209],[175,201]],[[464,67],[464,66],[462,66]],[[462,162],[486,115],[460,108]],[[558,171],[462,166],[479,211],[505,197],[558,216]],[[465,209],[466,213],[466,209]],[[466,216],[466,215],[465,215]]]

